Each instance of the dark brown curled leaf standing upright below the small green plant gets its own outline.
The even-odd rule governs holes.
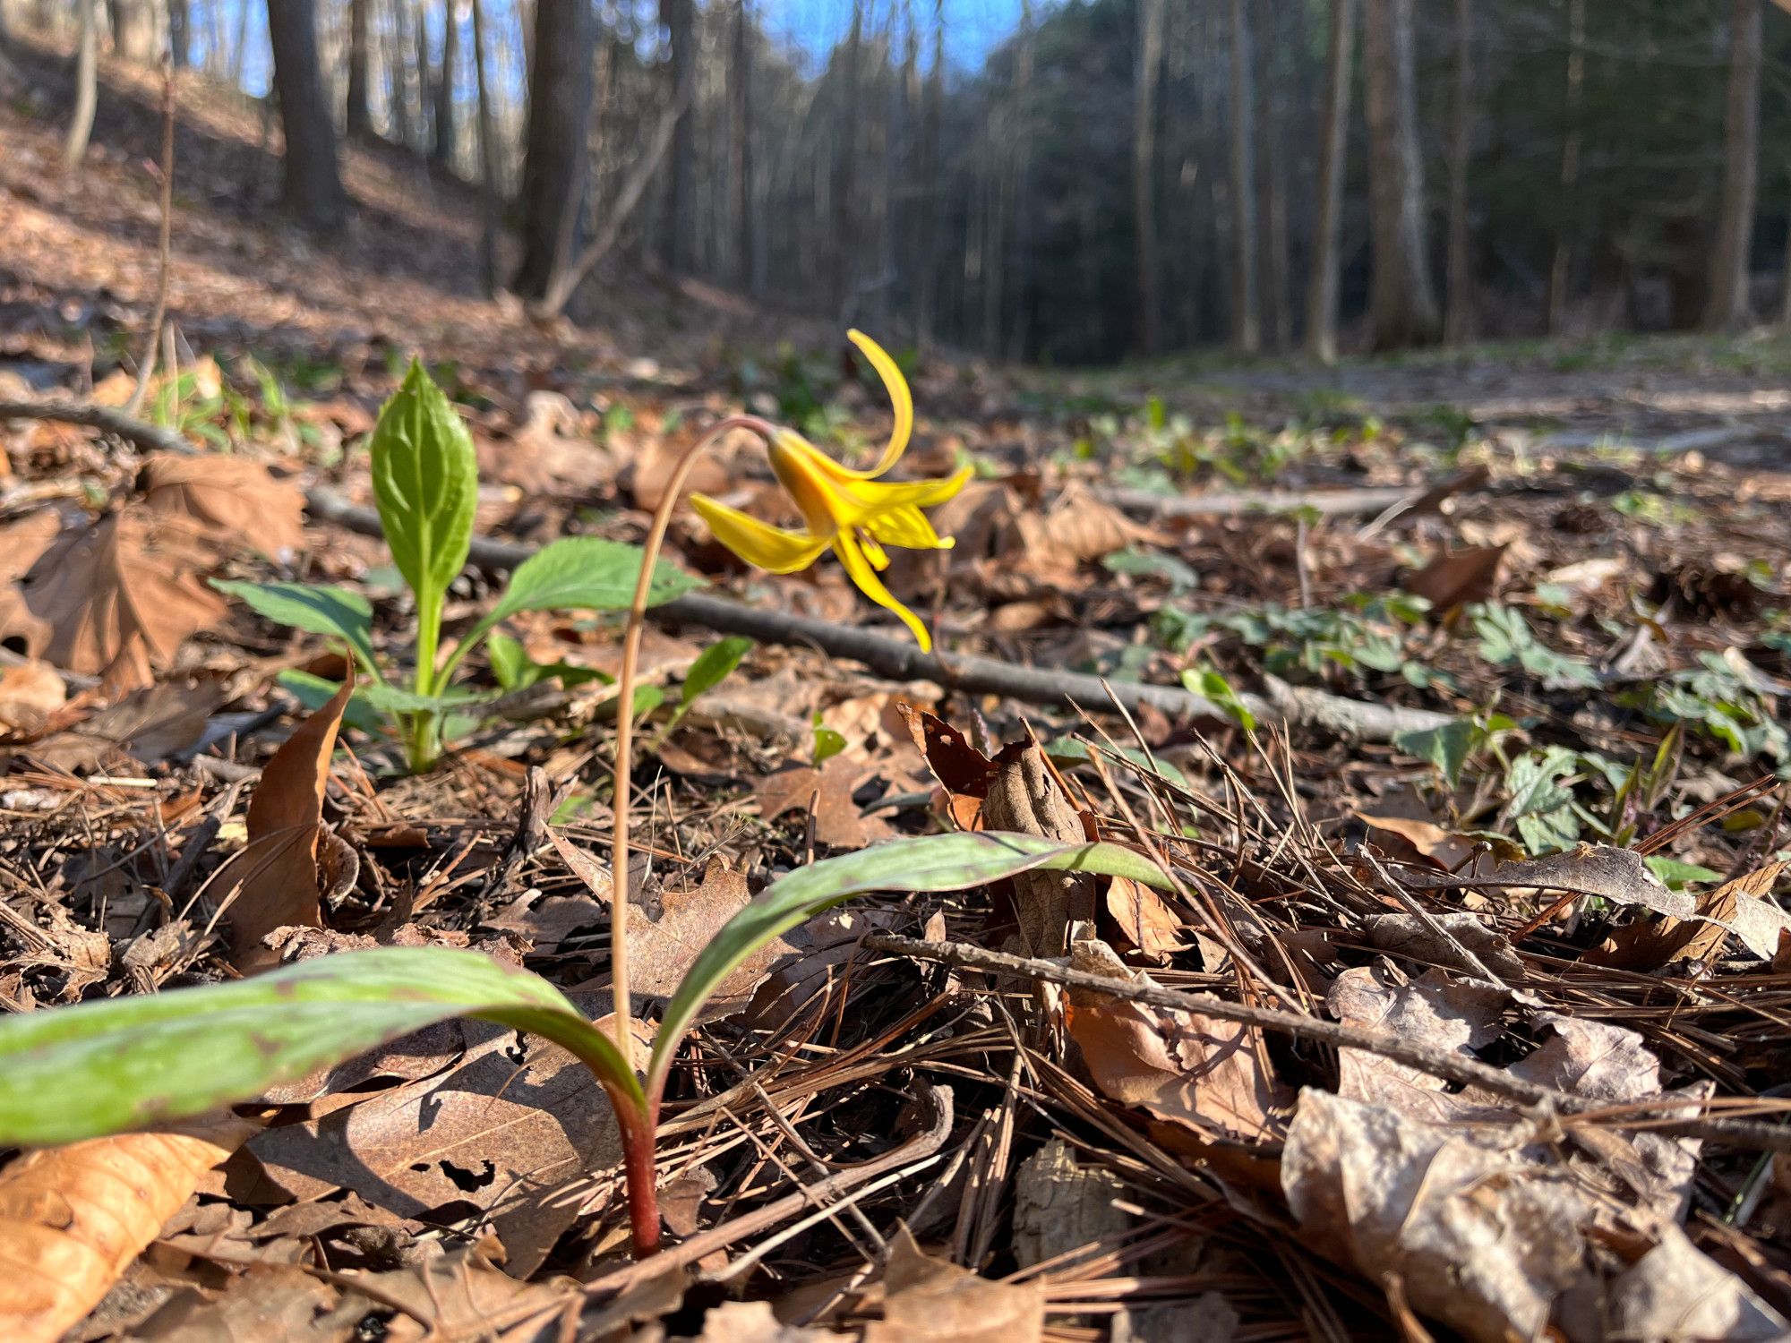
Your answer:
[[[276,928],[322,928],[324,790],[342,711],[353,691],[351,673],[274,752],[249,800],[249,845],[215,877],[219,892],[238,886],[227,911],[231,963],[240,971],[265,969],[279,960],[263,942]],[[335,845],[331,851],[340,852]]]

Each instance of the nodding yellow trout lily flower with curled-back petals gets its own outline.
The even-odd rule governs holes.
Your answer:
[[[768,573],[795,573],[806,569],[820,552],[833,548],[845,573],[865,596],[879,607],[901,616],[913,630],[922,652],[931,652],[933,639],[926,625],[883,586],[879,569],[888,568],[883,546],[906,550],[951,550],[951,537],[940,537],[921,509],[944,503],[971,478],[964,467],[944,480],[883,482],[883,476],[908,449],[913,433],[913,398],[901,369],[876,340],[861,331],[847,331],[870,367],[878,371],[896,408],[896,426],[878,464],[869,471],[840,466],[824,451],[790,430],[777,430],[770,439],[770,462],[777,483],[795,500],[808,523],[804,532],[788,532],[729,509],[706,494],[691,494],[691,507],[715,532],[715,539],[740,555],[747,564]]]

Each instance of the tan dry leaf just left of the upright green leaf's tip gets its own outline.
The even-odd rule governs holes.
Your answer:
[[[304,548],[304,494],[247,457],[156,453],[140,483],[150,510],[190,519],[229,550],[287,560]]]

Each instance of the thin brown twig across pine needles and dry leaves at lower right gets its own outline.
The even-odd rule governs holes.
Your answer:
[[[1646,1128],[1655,1133],[1673,1133],[1680,1137],[1698,1137],[1709,1142],[1721,1142],[1750,1151],[1791,1151],[1791,1126],[1770,1125],[1757,1119],[1673,1119],[1680,1112],[1696,1105],[1684,1096],[1662,1096],[1658,1101],[1639,1101],[1615,1107],[1610,1101],[1587,1099],[1555,1087],[1538,1087],[1512,1073],[1478,1058],[1458,1055],[1449,1049],[1420,1044],[1393,1031],[1365,1030],[1345,1026],[1336,1021],[1320,1021],[1297,1012],[1279,1008],[1247,1006],[1229,1003],[1211,994],[1182,994],[1161,985],[1128,983],[1125,979],[1107,979],[1087,971],[1073,971],[1055,960],[1032,960],[1026,956],[1008,956],[999,951],[983,951],[967,942],[922,942],[894,933],[869,933],[861,944],[869,951],[887,951],[896,956],[913,956],[915,960],[938,962],[971,971],[1001,971],[1003,974],[1021,974],[1028,979],[1060,983],[1067,988],[1085,988],[1109,997],[1123,997],[1132,1003],[1170,1008],[1173,1012],[1198,1012],[1220,1021],[1236,1021],[1243,1026],[1291,1035],[1315,1044],[1327,1044],[1334,1049],[1363,1049],[1395,1064],[1406,1064],[1422,1073],[1429,1073],[1444,1082],[1463,1087],[1479,1087],[1495,1096],[1517,1101],[1519,1105],[1553,1110],[1558,1116],[1578,1116],[1583,1119],[1607,1121],[1617,1128]],[[1660,1117],[1650,1117],[1642,1110],[1653,1110]]]

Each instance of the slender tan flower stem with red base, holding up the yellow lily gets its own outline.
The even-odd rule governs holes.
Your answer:
[[[672,510],[677,496],[690,478],[691,467],[706,448],[715,444],[729,430],[752,430],[767,441],[777,432],[756,415],[731,415],[713,430],[697,439],[666,480],[664,498],[654,510],[654,525],[647,532],[647,546],[641,553],[641,577],[634,584],[634,602],[629,605],[629,629],[621,641],[621,675],[616,679],[616,788],[611,797],[614,811],[613,847],[609,854],[613,894],[609,899],[609,978],[616,1001],[616,1048],[623,1058],[632,1058],[634,1040],[629,1024],[634,1021],[634,1001],[629,994],[629,806],[634,775],[634,682],[641,663],[641,634],[647,629],[647,600],[652,595],[654,569],[659,566],[659,550],[664,546],[666,528],[672,525]],[[618,1107],[620,1112],[620,1107]],[[647,1098],[647,1110],[639,1116],[641,1132],[630,1135],[630,1119],[623,1117],[623,1150],[629,1180],[629,1221],[634,1234],[634,1255],[638,1259],[659,1248],[659,1198],[654,1176],[654,1130],[659,1125],[659,1098]]]

